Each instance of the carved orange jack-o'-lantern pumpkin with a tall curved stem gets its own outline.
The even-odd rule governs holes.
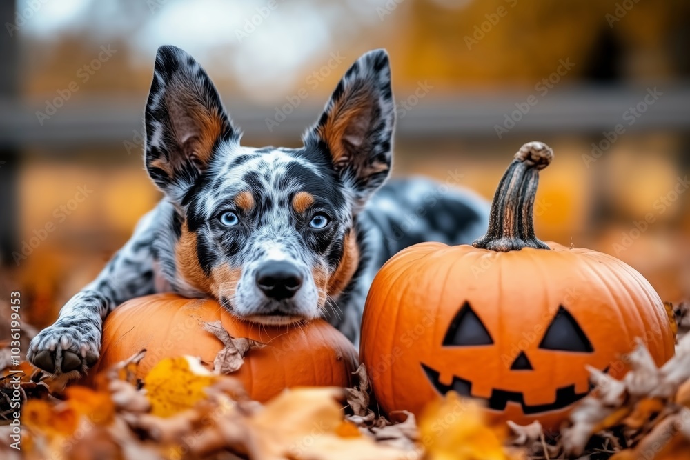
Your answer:
[[[586,366],[620,377],[636,337],[658,364],[673,355],[664,305],[642,275],[535,237],[538,171],[552,157],[543,143],[522,146],[472,246],[418,244],[376,275],[360,356],[387,412],[420,414],[455,390],[494,421],[556,428],[589,392]]]

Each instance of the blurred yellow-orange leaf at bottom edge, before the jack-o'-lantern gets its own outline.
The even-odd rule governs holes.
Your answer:
[[[504,430],[486,424],[482,408],[455,392],[429,404],[420,419],[429,460],[507,460]]]

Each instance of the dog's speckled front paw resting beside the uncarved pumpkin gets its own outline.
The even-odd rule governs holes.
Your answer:
[[[26,359],[50,374],[76,378],[98,361],[100,335],[88,333],[83,325],[55,323],[34,337]]]

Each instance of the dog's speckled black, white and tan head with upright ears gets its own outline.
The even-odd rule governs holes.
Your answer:
[[[359,264],[353,221],[391,170],[394,122],[376,50],[346,72],[302,148],[240,146],[204,69],[161,47],[145,163],[175,205],[175,281],[252,321],[321,316]]]

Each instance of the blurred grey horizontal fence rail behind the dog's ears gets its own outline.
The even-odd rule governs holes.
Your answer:
[[[642,104],[648,91],[656,88],[658,99],[629,123],[624,116]],[[413,94],[413,93],[412,93]],[[322,101],[303,101],[290,114],[276,116],[276,107],[250,104],[225,94],[226,107],[250,139],[266,143],[297,139],[299,133],[317,119]],[[554,89],[543,97],[538,92],[466,92],[429,94],[415,105],[398,103],[397,138],[501,137],[513,134],[549,132],[553,134],[601,134],[622,123],[637,130],[687,130],[690,128],[690,83],[657,84],[651,87],[571,86]],[[533,105],[529,105],[528,98]],[[651,100],[652,98],[648,98]],[[0,146],[69,147],[83,143],[141,143],[144,94],[137,99],[94,97],[88,103],[67,101],[49,119],[39,122],[37,112],[45,112],[46,101],[0,99]],[[415,101],[415,99],[411,99]],[[284,102],[284,101],[283,101]],[[520,112],[522,108],[522,112]],[[525,113],[526,111],[526,113]],[[629,114],[629,120],[633,115]],[[279,123],[269,123],[276,119]],[[514,123],[507,121],[512,119]],[[269,126],[268,125],[272,125]],[[276,126],[277,124],[277,126]],[[497,128],[500,126],[505,131]],[[49,149],[46,152],[55,152]]]

